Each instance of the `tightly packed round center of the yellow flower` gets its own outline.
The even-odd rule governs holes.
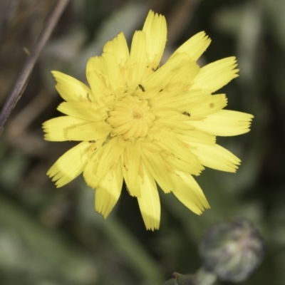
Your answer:
[[[140,100],[130,94],[118,101],[108,115],[106,121],[113,128],[111,133],[122,135],[124,140],[145,137],[152,121],[155,120],[147,100]]]

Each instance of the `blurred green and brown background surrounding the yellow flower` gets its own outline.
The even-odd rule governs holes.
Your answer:
[[[0,1],[0,104],[9,95],[56,1]],[[136,199],[123,191],[103,221],[82,177],[56,189],[46,172],[71,142],[43,140],[43,121],[60,115],[51,70],[86,82],[90,56],[120,31],[129,43],[147,11],[164,14],[165,61],[198,31],[212,43],[201,65],[237,56],[239,78],[223,88],[227,108],[254,114],[252,131],[219,144],[242,159],[236,174],[197,177],[212,209],[197,216],[160,195],[160,230],[147,232]],[[0,141],[0,284],[159,285],[172,271],[199,269],[197,244],[209,225],[247,217],[261,231],[266,255],[241,284],[285,284],[285,1],[71,0],[41,53]],[[8,16],[8,18],[7,18]],[[217,284],[227,284],[217,282]]]

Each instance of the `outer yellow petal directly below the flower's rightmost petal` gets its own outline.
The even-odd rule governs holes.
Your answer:
[[[197,155],[202,165],[221,171],[237,171],[241,161],[224,147],[220,145],[192,145],[192,152]]]

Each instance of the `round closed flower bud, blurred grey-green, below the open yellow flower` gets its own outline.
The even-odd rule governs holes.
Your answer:
[[[239,282],[252,274],[264,255],[261,235],[244,218],[210,227],[199,244],[206,271],[224,281]]]

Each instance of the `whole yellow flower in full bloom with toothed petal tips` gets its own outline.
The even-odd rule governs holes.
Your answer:
[[[95,189],[95,210],[106,218],[124,180],[152,230],[160,225],[157,185],[196,214],[209,209],[192,175],[205,166],[235,172],[239,158],[217,145],[216,136],[247,133],[253,118],[223,110],[226,95],[212,95],[237,77],[234,57],[200,68],[197,59],[210,43],[201,32],[160,66],[166,38],[165,17],[150,11],[142,31],[135,31],[130,52],[119,33],[105,44],[102,56],[90,58],[90,88],[53,71],[66,100],[58,110],[65,115],[43,123],[46,140],[80,142],[48,170],[57,187],[83,172]]]

